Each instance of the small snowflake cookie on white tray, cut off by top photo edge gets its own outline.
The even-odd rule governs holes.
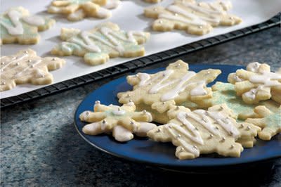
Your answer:
[[[109,18],[109,9],[117,8],[119,0],[58,0],[52,1],[48,13],[67,15],[67,20],[78,21],[85,17]]]

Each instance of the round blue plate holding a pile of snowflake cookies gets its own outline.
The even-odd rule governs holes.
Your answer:
[[[219,75],[216,80],[227,82],[228,74],[230,72],[235,72],[237,69],[242,67],[233,65],[190,65],[190,70],[195,72],[207,68],[220,69],[223,73]],[[147,72],[154,73],[159,70],[164,70],[164,68],[150,70]],[[131,86],[126,83],[126,77],[115,79],[86,96],[75,112],[74,122],[79,134],[88,143],[99,150],[103,150],[105,153],[122,157],[127,160],[144,162],[146,164],[166,168],[230,166],[281,157],[281,135],[275,136],[275,138],[271,141],[257,141],[254,148],[244,149],[241,157],[202,155],[194,160],[178,160],[175,156],[176,147],[171,143],[157,143],[155,141],[150,141],[148,138],[137,138],[136,136],[136,138],[129,142],[119,143],[108,135],[89,136],[81,131],[82,127],[85,125],[84,122],[80,122],[79,120],[79,114],[81,114],[81,112],[84,112],[85,110],[93,110],[93,105],[96,100],[99,100],[105,105],[109,105],[111,103],[118,105],[116,97],[117,93],[127,90],[131,90]]]

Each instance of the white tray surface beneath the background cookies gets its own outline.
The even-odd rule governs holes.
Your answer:
[[[208,1],[208,0],[205,0]],[[145,44],[145,56],[153,53],[158,53],[160,51],[166,51],[173,49],[176,46],[182,46],[184,44],[189,44],[194,41],[199,41],[201,39],[206,39],[209,37],[214,37],[220,34],[225,34],[227,32],[232,32],[234,30],[240,30],[244,27],[249,27],[251,25],[256,25],[266,20],[269,20],[274,15],[281,11],[281,1],[280,0],[233,0],[233,9],[230,13],[233,13],[242,18],[242,23],[240,25],[235,25],[232,27],[216,27],[214,30],[204,36],[198,37],[191,34],[186,34],[184,31],[174,30],[173,32],[154,32],[151,30],[150,25],[152,24],[152,18],[145,18],[143,15],[143,8],[148,6],[155,6],[154,4],[148,4],[143,2],[143,0],[124,0],[118,8],[112,10],[112,17],[107,19],[96,19],[96,18],[86,18],[79,22],[70,22],[62,15],[52,15],[46,13],[46,8],[50,4],[50,0],[1,0],[0,11],[3,13],[8,8],[15,6],[23,6],[27,8],[32,14],[45,15],[55,18],[57,21],[54,27],[50,30],[40,32],[41,41],[36,45],[18,45],[18,44],[5,44],[1,46],[1,56],[8,56],[21,49],[33,49],[37,51],[39,56],[51,56],[50,51],[58,44],[60,41],[59,34],[60,28],[62,27],[72,27],[79,28],[80,30],[90,30],[101,22],[115,22],[119,25],[122,30],[140,30],[150,32],[150,40]],[[158,5],[167,6],[171,4],[173,0],[163,0]],[[125,63],[134,58],[112,58],[109,62],[103,65],[90,66],[84,63],[83,58],[76,56],[64,57],[66,60],[66,65],[59,70],[52,71],[54,77],[54,82],[63,82],[67,79],[72,79],[74,77],[79,77],[82,75],[89,74],[91,72],[96,72],[98,70],[103,70],[107,67],[118,65],[120,63]],[[50,84],[48,84],[50,85]],[[35,89],[39,89],[44,86],[35,86],[31,84],[22,84],[16,86],[14,89],[8,91],[2,91],[0,93],[0,98],[6,98],[11,96],[16,96],[21,93],[26,93]]]

